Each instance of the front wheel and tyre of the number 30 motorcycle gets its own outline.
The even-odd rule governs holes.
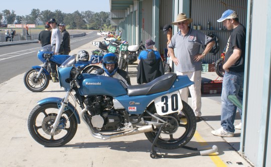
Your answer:
[[[53,135],[50,135],[58,113],[57,103],[37,105],[28,117],[28,129],[32,137],[40,144],[48,147],[61,146],[69,142],[76,133],[77,122],[71,110],[63,112],[60,123]]]

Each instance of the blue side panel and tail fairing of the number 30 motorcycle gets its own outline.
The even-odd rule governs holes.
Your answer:
[[[173,86],[171,86],[168,91],[139,96],[128,96],[125,94],[117,96],[115,99],[117,99],[129,113],[142,113],[147,108],[149,103],[152,102],[156,97],[172,93],[184,87],[190,86],[191,84],[194,84],[194,82],[191,81],[187,75],[178,75],[175,82],[173,83]],[[131,101],[136,104],[130,104]],[[129,107],[136,107],[136,109],[134,111],[130,111]]]

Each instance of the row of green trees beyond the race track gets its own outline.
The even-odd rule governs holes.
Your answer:
[[[15,11],[5,9],[0,12],[0,18],[7,24],[36,24],[38,27],[39,22],[45,24],[50,18],[55,18],[58,23],[64,22],[68,25],[69,29],[102,29],[103,27],[110,27],[110,13],[109,12],[93,12],[87,11],[74,11],[73,13],[64,13],[61,10],[44,10],[33,8],[29,15],[16,15]],[[0,20],[1,20],[0,19]]]

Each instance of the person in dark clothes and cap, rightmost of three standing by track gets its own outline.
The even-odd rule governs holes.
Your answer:
[[[61,22],[60,24],[58,24],[59,29],[61,30],[61,36],[62,36],[62,42],[61,42],[61,46],[60,49],[60,54],[64,54],[64,55],[68,55],[71,51],[71,47],[70,47],[70,34],[69,32],[65,29],[66,28],[66,24],[64,22]]]

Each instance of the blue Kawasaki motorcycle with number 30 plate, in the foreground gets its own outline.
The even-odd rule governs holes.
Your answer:
[[[66,144],[81,120],[93,137],[104,140],[145,133],[153,147],[175,149],[193,137],[196,117],[179,93],[194,83],[187,75],[170,72],[146,84],[126,86],[113,77],[82,72],[75,64],[75,57],[70,57],[57,69],[59,83],[67,90],[65,97],[44,98],[29,115],[28,129],[38,143]],[[70,96],[80,112],[69,102]],[[179,111],[185,118],[179,118]],[[154,149],[151,157],[156,157]]]

